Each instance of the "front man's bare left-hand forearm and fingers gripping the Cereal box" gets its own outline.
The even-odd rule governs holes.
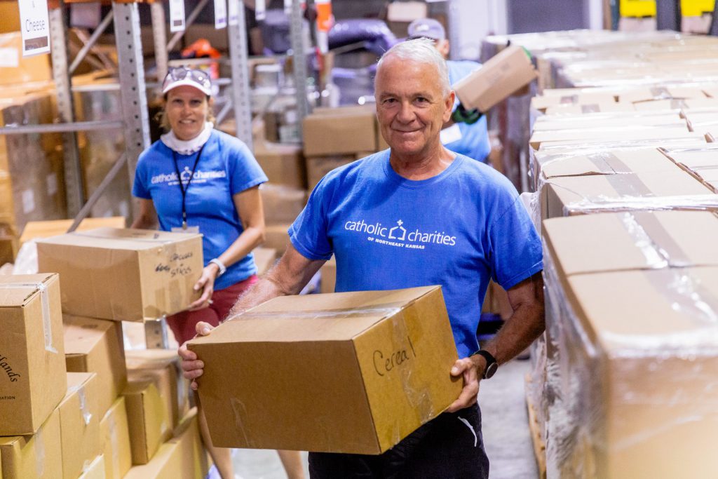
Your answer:
[[[289,244],[279,263],[239,297],[225,321],[232,320],[233,317],[240,315],[249,308],[274,297],[299,293],[309,282],[309,279],[312,279],[312,276],[319,271],[324,262],[323,260],[304,258],[294,246]],[[212,325],[208,322],[197,323],[197,335],[208,335],[212,329]],[[187,349],[186,343],[180,346],[179,354],[182,357],[183,375],[185,378],[192,380],[192,389],[196,390],[197,382],[195,380],[202,376],[204,372],[202,368],[205,367],[205,364],[197,359],[194,352]]]

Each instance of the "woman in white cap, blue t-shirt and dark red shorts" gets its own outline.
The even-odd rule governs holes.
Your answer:
[[[195,336],[197,322],[218,325],[257,281],[251,251],[264,240],[258,187],[267,177],[242,141],[214,129],[211,87],[202,70],[169,71],[162,84],[167,133],[140,155],[132,188],[140,203],[132,228],[154,228],[159,220],[164,231],[203,235],[205,267],[195,284],[200,298],[167,317],[180,345]],[[220,475],[233,478],[230,450],[211,446],[201,411],[199,417]],[[298,452],[280,452],[280,458],[290,477],[302,477]]]

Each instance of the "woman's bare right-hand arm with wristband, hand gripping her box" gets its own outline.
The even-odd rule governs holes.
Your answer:
[[[236,193],[232,196],[234,205],[237,208],[239,219],[242,222],[244,231],[227,248],[219,259],[222,264],[229,267],[251,253],[259,244],[264,241],[264,208],[259,195],[259,187],[251,187]],[[205,258],[213,259],[213,258]],[[195,284],[195,291],[202,289],[202,296],[190,304],[190,309],[205,307],[214,292],[215,279],[220,269],[214,263],[210,263],[202,270],[202,276]]]

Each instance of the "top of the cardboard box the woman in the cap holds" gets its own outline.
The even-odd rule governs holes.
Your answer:
[[[138,251],[155,248],[163,243],[196,238],[197,236],[201,235],[199,233],[169,233],[167,231],[105,227],[43,238],[38,240],[38,243]]]

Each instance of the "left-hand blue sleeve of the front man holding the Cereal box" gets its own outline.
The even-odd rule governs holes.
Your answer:
[[[332,257],[332,243],[327,235],[326,205],[331,199],[327,177],[314,187],[307,206],[289,227],[289,241],[304,258],[328,260]]]

